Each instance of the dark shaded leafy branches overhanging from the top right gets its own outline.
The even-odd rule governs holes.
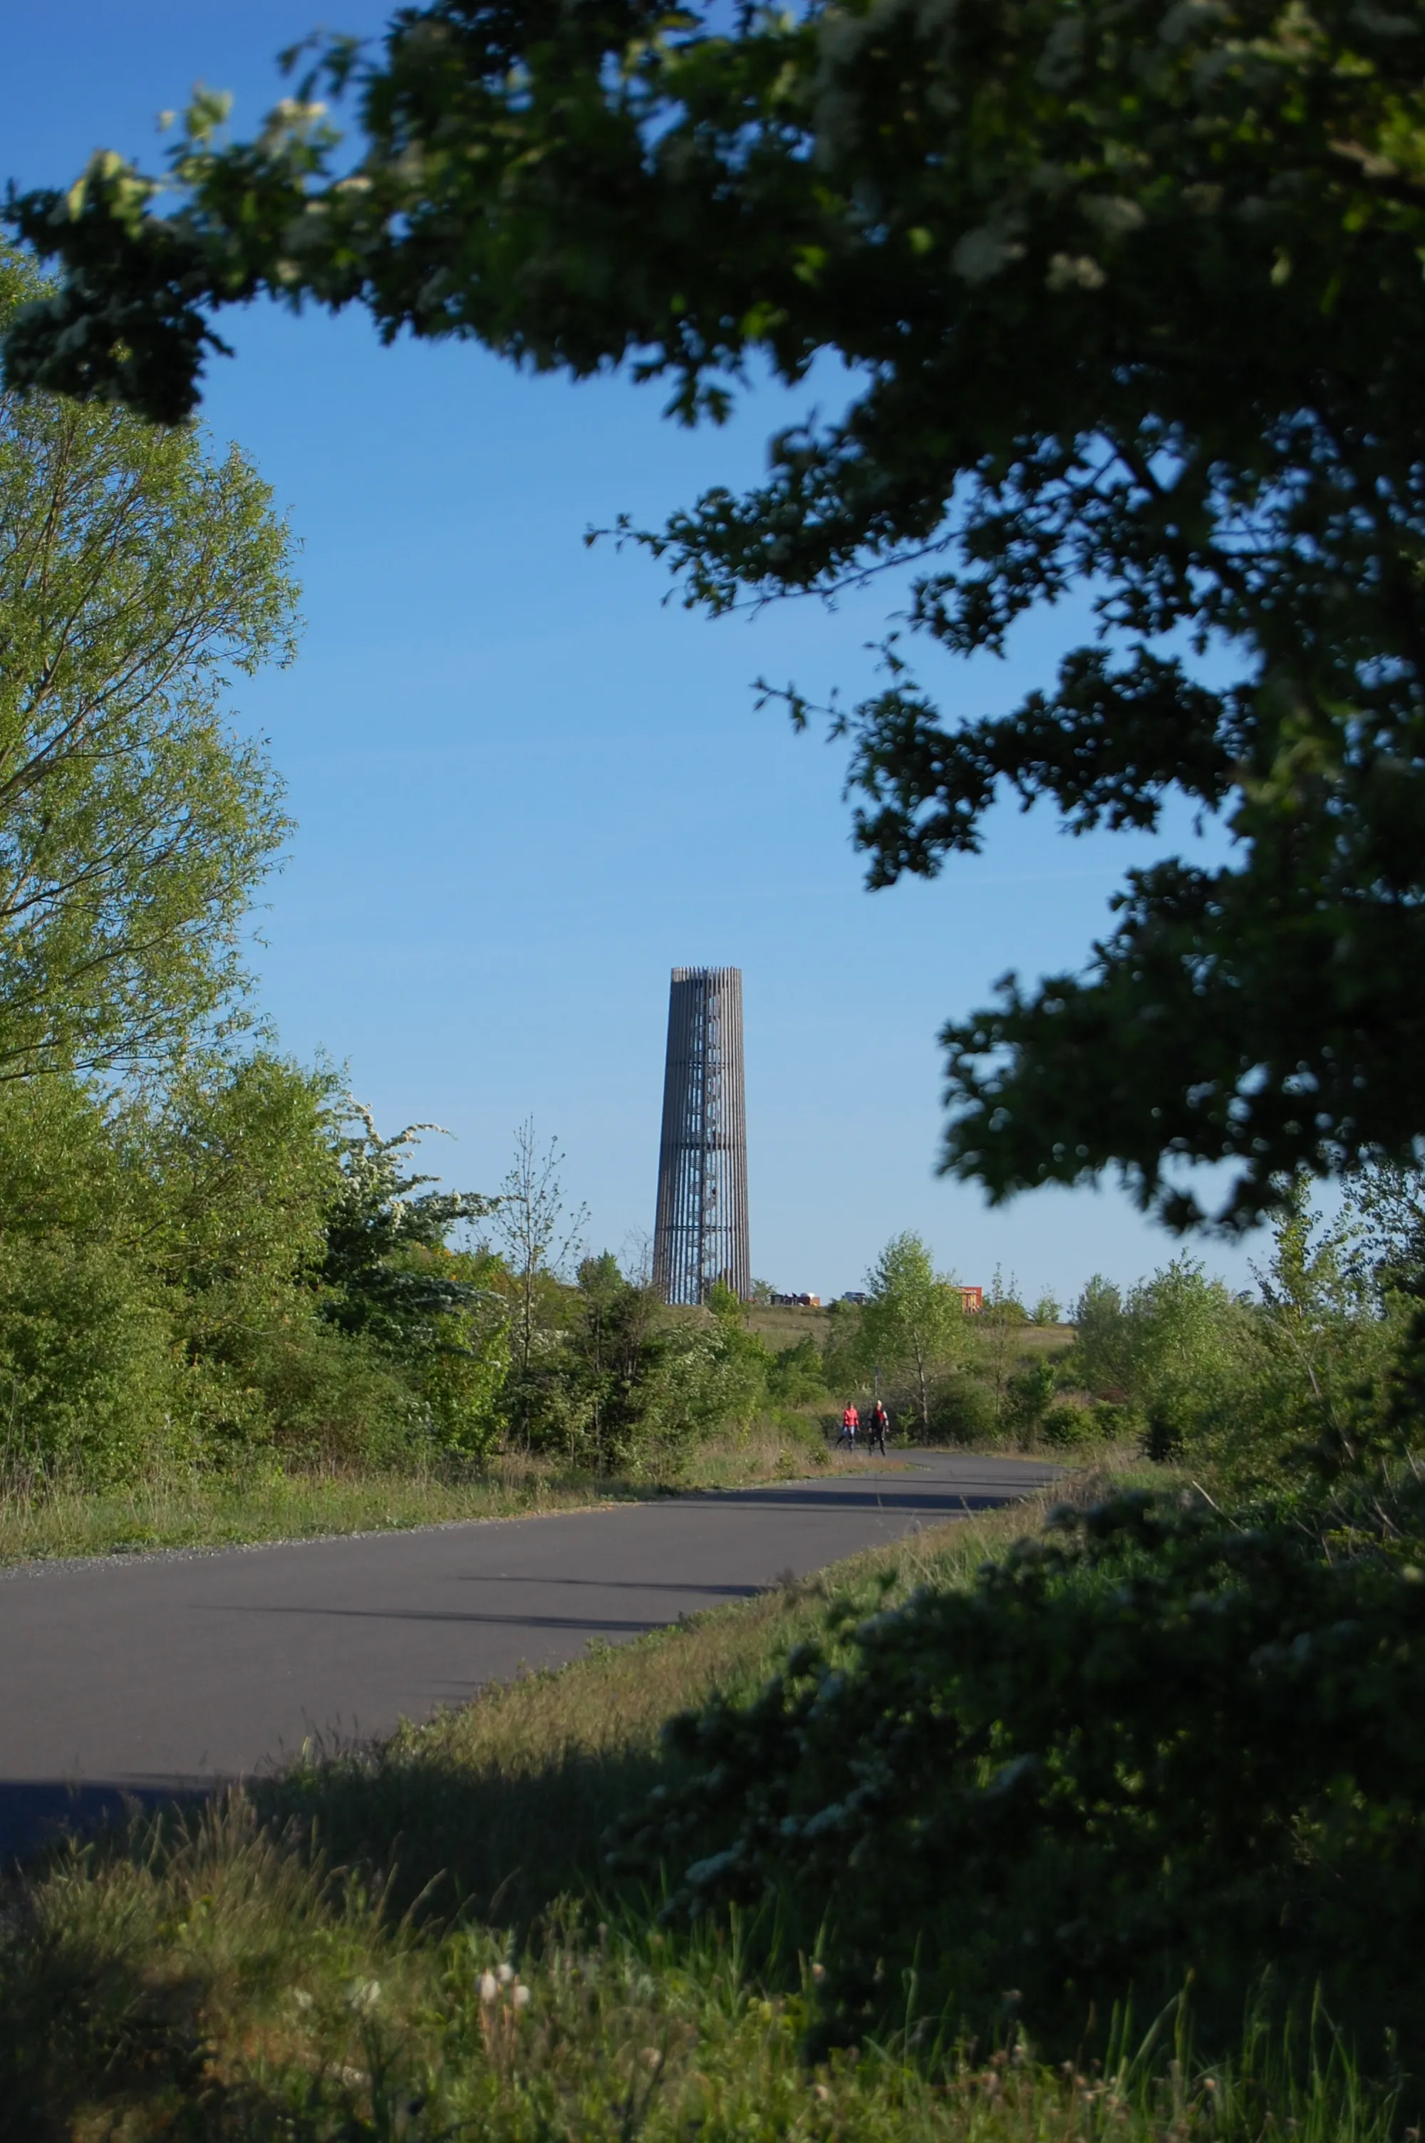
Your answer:
[[[947,720],[891,647],[846,718],[857,840],[889,883],[1005,793],[1217,821],[1226,859],[1134,872],[1082,973],[947,1029],[945,1166],[996,1198],[1116,1166],[1185,1224],[1179,1164],[1226,1162],[1245,1226],[1425,1129],[1423,39],[1419,0],[435,0],[319,45],[253,141],[199,99],[165,212],[116,156],[17,199],[66,283],[9,377],[176,420],[210,315],[264,289],[630,362],[684,418],[838,351],[840,418],[647,540],[711,611],[911,561],[949,656],[1093,594],[1007,716]]]

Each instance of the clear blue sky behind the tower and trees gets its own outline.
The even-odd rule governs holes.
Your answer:
[[[96,146],[154,165],[154,114],[199,79],[251,131],[283,94],[274,54],[315,19],[306,0],[15,9],[0,178],[69,182]],[[330,17],[381,21],[371,0]],[[662,604],[658,566],[583,544],[621,510],[651,523],[754,478],[804,399],[763,390],[690,435],[656,388],[381,349],[364,315],[259,309],[223,334],[238,358],[214,362],[206,420],[302,542],[302,654],[236,696],[298,819],[257,951],[289,1050],[349,1063],[381,1125],[448,1125],[459,1144],[431,1162],[461,1187],[491,1189],[534,1114],[591,1245],[621,1249],[651,1228],[669,969],[741,966],[752,1267],[774,1286],[857,1286],[900,1228],[962,1279],[999,1264],[1061,1299],[1172,1256],[1114,1187],[990,1213],[934,1177],[939,1024],[1005,969],[1078,964],[1155,844],[1003,810],[981,857],[868,896],[840,748],[759,714],[750,684],[855,694],[885,589],[709,624]],[[926,679],[951,709],[1011,705],[1067,628]],[[1245,1282],[1262,1243],[1200,1254]]]

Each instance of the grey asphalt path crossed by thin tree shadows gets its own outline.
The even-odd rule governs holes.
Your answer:
[[[124,1794],[281,1766],[429,1719],[921,1526],[1052,1466],[924,1453],[881,1472],[270,1547],[0,1575],[0,1854]]]

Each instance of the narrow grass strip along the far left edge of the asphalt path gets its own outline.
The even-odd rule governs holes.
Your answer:
[[[270,1468],[240,1477],[195,1472],[101,1492],[0,1492],[0,1564],[525,1517],[660,1496],[669,1487],[741,1487],[846,1464],[861,1459],[816,1451],[804,1436],[763,1425],[694,1449],[666,1479],[576,1474],[549,1459],[508,1455],[467,1477]]]

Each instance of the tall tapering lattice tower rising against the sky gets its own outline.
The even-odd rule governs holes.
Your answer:
[[[662,1078],[654,1286],[664,1303],[703,1303],[718,1279],[744,1303],[752,1294],[741,969],[675,966]]]

